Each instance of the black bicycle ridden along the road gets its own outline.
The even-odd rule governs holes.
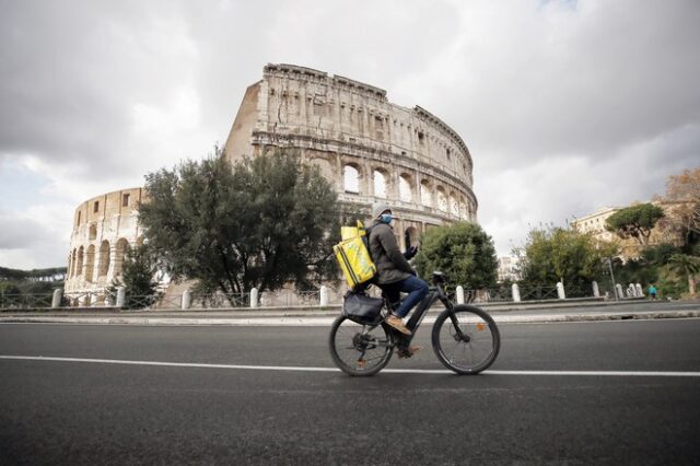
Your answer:
[[[501,348],[499,328],[486,311],[453,304],[442,287],[447,281],[444,273],[433,272],[433,286],[406,324],[411,335],[384,323],[390,312],[386,300],[381,312],[366,321],[352,319],[345,313],[338,316],[328,340],[335,364],[348,375],[376,374],[388,364],[395,349],[409,347],[428,310],[440,300],[445,310],[435,318],[431,339],[438,360],[457,374],[478,374],[488,369]]]

